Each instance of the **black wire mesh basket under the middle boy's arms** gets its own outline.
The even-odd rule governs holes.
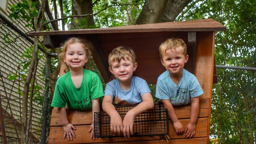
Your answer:
[[[135,106],[118,106],[117,112],[120,114],[122,120],[125,114]],[[162,105],[155,103],[155,109],[150,109],[144,113],[135,116],[133,135],[130,137],[139,136],[154,136],[154,135],[168,135],[168,113]],[[112,134],[110,130],[110,117],[105,112],[94,113],[94,136],[95,137],[123,137]]]

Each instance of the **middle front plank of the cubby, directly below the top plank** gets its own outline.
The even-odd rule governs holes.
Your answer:
[[[207,136],[207,125],[208,118],[198,118],[196,124],[196,134],[194,138],[198,137],[206,137]],[[186,128],[189,119],[180,120],[183,126]],[[91,133],[88,132],[90,125],[82,125],[76,126],[76,130],[74,131],[76,134],[76,138],[72,141],[68,141],[67,139],[63,139],[63,127],[51,127],[50,128],[50,136],[48,143],[49,144],[88,144],[88,143],[103,143],[103,142],[131,142],[131,141],[141,141],[141,140],[161,140],[160,136],[152,136],[152,137],[130,137],[130,138],[113,138],[110,140],[109,138],[98,138],[97,140],[92,140],[90,138]],[[172,122],[169,122],[169,137],[171,139],[176,138],[185,138],[185,133],[182,135],[177,135],[174,131]]]

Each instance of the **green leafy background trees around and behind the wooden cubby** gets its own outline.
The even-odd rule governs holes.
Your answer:
[[[26,0],[23,0],[26,5]],[[37,2],[37,1],[34,1]],[[36,4],[31,8],[13,6],[12,18],[20,13],[22,19],[32,21],[37,15]],[[49,1],[53,9],[53,1]],[[72,0],[62,0],[63,15],[72,15]],[[64,20],[69,29],[107,28],[136,24],[145,3],[152,0],[93,0],[94,24],[86,18],[75,19],[76,27],[70,26],[71,18]],[[178,0],[173,0],[178,3]],[[59,6],[59,3],[57,3]],[[29,11],[24,15],[22,7]],[[224,32],[215,35],[216,65],[256,67],[256,1],[255,0],[189,0],[175,21],[213,18],[226,26]],[[104,10],[103,10],[104,9]],[[53,11],[52,11],[53,13]],[[20,17],[18,17],[20,18]],[[28,25],[33,27],[33,25]],[[45,30],[50,26],[46,25]],[[90,58],[91,69],[98,72]],[[56,63],[53,64],[56,66]],[[220,144],[252,144],[256,142],[256,76],[254,71],[217,68],[218,83],[213,85],[210,138]],[[150,85],[152,92],[155,86]]]

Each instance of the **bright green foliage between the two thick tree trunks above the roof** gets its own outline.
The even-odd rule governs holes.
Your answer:
[[[95,23],[98,28],[132,25],[139,15],[144,0],[105,0],[93,7],[94,13],[98,13]]]

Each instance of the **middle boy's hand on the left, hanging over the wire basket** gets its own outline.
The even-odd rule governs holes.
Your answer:
[[[110,129],[111,129],[111,132],[113,134],[118,135],[118,136],[121,135],[121,131],[123,129],[123,127],[122,127],[122,118],[118,113],[113,114],[110,117]]]

